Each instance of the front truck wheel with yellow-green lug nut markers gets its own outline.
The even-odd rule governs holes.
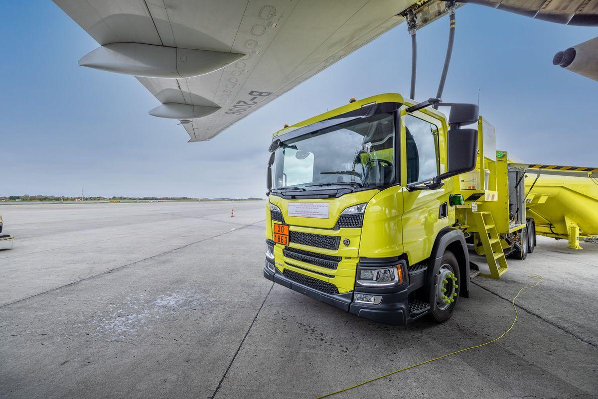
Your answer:
[[[430,315],[437,323],[444,323],[453,314],[459,298],[461,275],[459,263],[451,251],[445,251],[440,270],[435,278],[435,300]]]

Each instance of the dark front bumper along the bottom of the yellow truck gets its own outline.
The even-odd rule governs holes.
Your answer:
[[[344,311],[348,311],[359,317],[376,321],[377,323],[400,326],[427,314],[427,311],[419,312],[417,314],[411,314],[409,311],[410,293],[421,287],[421,284],[423,284],[423,275],[422,278],[414,278],[407,281],[407,283],[399,286],[397,288],[398,290],[395,292],[387,291],[385,293],[373,293],[372,290],[364,289],[363,291],[351,291],[336,295],[316,290],[315,288],[305,286],[304,284],[285,277],[285,275],[283,275],[278,268],[274,267],[272,263],[268,262],[268,260],[266,260],[266,263],[264,264],[264,277],[281,286],[291,288],[298,293],[328,303],[329,305],[343,309]],[[376,305],[372,303],[355,302],[353,301],[353,294],[355,293],[374,294],[382,297],[382,299]]]

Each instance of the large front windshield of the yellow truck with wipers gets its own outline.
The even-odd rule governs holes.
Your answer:
[[[273,188],[376,187],[395,177],[393,113],[380,113],[283,142]]]

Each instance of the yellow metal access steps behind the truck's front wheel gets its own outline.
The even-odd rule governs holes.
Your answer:
[[[483,277],[501,278],[507,270],[507,258],[502,250],[501,237],[499,237],[490,212],[473,212],[475,223],[480,230],[480,240],[484,247],[484,254],[490,274],[480,273]]]

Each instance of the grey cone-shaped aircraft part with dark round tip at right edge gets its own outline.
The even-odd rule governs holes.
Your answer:
[[[559,51],[553,64],[598,81],[598,38]]]

